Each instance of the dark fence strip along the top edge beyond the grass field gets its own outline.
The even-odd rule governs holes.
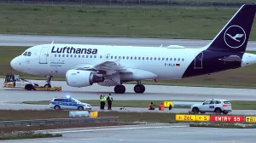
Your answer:
[[[255,0],[0,0],[0,3],[66,4],[66,5],[121,5],[121,6],[207,6],[241,7]]]

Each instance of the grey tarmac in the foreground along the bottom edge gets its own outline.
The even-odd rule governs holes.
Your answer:
[[[178,143],[254,143],[256,129],[189,128],[186,124],[121,126],[106,129],[57,129],[47,131],[62,134],[59,138],[3,140],[14,143],[75,142],[178,142]]]

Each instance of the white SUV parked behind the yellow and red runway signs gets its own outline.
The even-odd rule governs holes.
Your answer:
[[[195,104],[191,106],[190,109],[192,113],[205,113],[205,112],[215,112],[216,114],[228,114],[232,112],[231,103],[229,100],[206,100],[201,104]]]

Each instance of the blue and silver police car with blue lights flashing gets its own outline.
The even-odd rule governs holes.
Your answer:
[[[61,98],[53,98],[49,101],[49,108],[55,110],[91,110],[90,104],[80,102],[70,96],[61,97]]]

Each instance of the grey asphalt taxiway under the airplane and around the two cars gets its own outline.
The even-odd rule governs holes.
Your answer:
[[[31,80],[32,82],[44,85],[44,81]],[[0,79],[3,83],[3,79]],[[159,86],[146,85],[144,94],[135,94],[132,84],[127,84],[126,94],[114,94],[113,87],[102,87],[97,84],[86,88],[73,88],[67,86],[65,81],[52,81],[53,86],[61,86],[62,91],[26,91],[25,89],[3,89],[0,88],[0,109],[49,109],[47,105],[27,105],[21,104],[22,101],[51,100],[54,97],[71,95],[78,100],[98,100],[101,94],[112,93],[114,102],[118,100],[207,100],[207,99],[226,99],[226,100],[255,100],[256,89],[224,89],[224,88],[199,88],[199,87],[178,87],[178,86]],[[113,102],[113,104],[114,104]],[[125,106],[122,106],[125,107]],[[99,111],[99,107],[93,107],[94,111]],[[120,107],[113,108],[119,112],[160,112],[158,110],[148,111],[145,108]],[[164,111],[172,113],[187,113],[189,109],[174,109]],[[254,110],[234,110],[230,114],[256,115]]]

